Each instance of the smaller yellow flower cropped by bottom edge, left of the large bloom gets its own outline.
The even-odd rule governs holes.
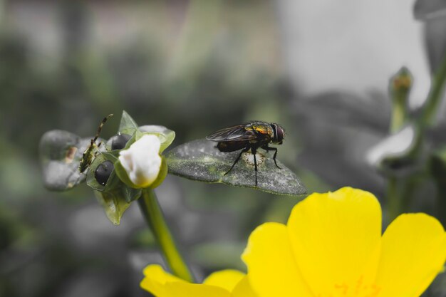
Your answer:
[[[141,287],[157,297],[256,297],[247,276],[236,270],[214,272],[202,284],[183,281],[157,264],[147,266],[144,275]]]

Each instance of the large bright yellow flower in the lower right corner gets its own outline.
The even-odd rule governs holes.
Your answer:
[[[266,223],[242,259],[260,297],[418,297],[442,271],[446,234],[427,214],[402,214],[381,236],[368,192],[311,194],[288,224]]]

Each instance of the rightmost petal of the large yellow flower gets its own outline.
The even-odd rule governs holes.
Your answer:
[[[402,214],[383,235],[376,285],[380,297],[418,297],[442,271],[446,234],[427,214]]]

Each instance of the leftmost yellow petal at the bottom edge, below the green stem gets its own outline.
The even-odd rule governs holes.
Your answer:
[[[176,276],[172,276],[160,265],[150,265],[144,269],[145,278],[140,286],[156,297],[230,297],[229,291],[217,286],[198,283],[187,283]]]

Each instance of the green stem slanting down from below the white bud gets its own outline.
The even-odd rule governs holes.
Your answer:
[[[152,189],[142,189],[142,197],[138,199],[138,203],[172,273],[192,283],[194,281],[192,273],[175,245],[155,192]]]

